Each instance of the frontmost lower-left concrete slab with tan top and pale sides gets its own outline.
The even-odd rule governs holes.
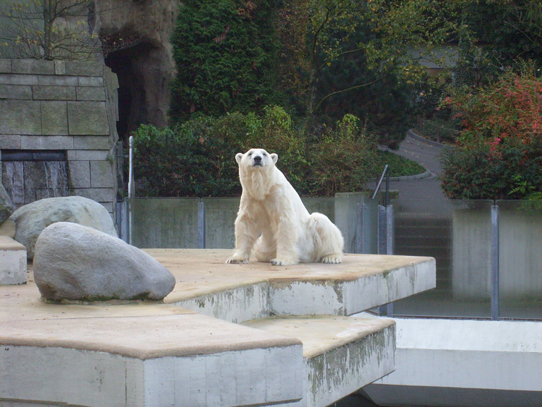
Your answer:
[[[304,398],[302,344],[292,337],[163,304],[22,308],[17,321],[0,318],[0,406],[233,407]]]

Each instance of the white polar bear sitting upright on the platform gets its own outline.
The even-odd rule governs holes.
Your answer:
[[[340,230],[324,214],[309,214],[277,159],[260,148],[236,154],[243,193],[227,263],[247,263],[253,249],[256,260],[275,266],[342,262]]]

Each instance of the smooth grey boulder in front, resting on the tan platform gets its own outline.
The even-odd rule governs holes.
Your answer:
[[[175,278],[143,250],[99,230],[58,222],[35,244],[34,280],[49,300],[160,300]]]

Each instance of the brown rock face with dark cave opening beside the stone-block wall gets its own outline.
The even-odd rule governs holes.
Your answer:
[[[113,51],[106,65],[120,84],[119,133],[140,123],[167,125],[170,104],[168,85],[175,65],[170,45],[179,0],[129,2],[98,0],[95,31],[101,38],[124,38],[133,47]]]

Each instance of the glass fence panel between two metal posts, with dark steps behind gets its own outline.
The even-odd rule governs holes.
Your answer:
[[[491,317],[493,201],[447,200],[434,210],[412,200],[392,205],[395,254],[436,259],[436,289],[395,302],[393,314]]]

